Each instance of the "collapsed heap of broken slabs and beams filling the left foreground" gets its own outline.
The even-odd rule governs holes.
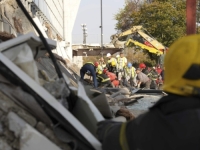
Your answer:
[[[99,121],[134,119],[126,106],[144,98],[131,95],[138,90],[90,90],[78,68],[34,33],[0,37],[0,149],[100,150]],[[46,41],[55,50],[57,42]]]

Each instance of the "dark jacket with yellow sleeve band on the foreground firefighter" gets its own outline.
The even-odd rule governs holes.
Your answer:
[[[98,126],[103,150],[199,150],[200,98],[170,94],[135,120]]]

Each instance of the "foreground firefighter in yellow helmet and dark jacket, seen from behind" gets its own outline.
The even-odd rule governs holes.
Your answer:
[[[129,122],[99,122],[103,150],[200,149],[200,35],[172,44],[164,66],[168,95]]]

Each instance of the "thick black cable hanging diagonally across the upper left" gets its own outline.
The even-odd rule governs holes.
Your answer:
[[[40,29],[37,27],[37,25],[35,24],[35,22],[33,21],[33,19],[31,18],[31,16],[29,15],[29,13],[27,12],[27,10],[25,9],[24,5],[22,4],[22,2],[20,0],[16,0],[17,4],[19,5],[19,7],[21,8],[21,10],[23,11],[24,15],[27,17],[27,19],[31,22],[31,24],[33,25],[33,27],[35,28],[35,30],[38,32],[41,41],[43,42],[47,52],[49,53],[50,58],[52,59],[52,62],[54,64],[54,67],[56,69],[56,72],[58,74],[59,78],[63,78],[62,72],[60,71],[60,68],[58,67],[58,64],[56,62],[56,58],[54,57],[46,39],[44,38],[42,32],[40,31]]]

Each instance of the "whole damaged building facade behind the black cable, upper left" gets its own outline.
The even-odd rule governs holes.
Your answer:
[[[22,3],[43,35],[57,41],[54,52],[72,61],[72,30],[80,0],[22,0]],[[37,34],[15,0],[1,0],[0,9],[0,31],[15,36]]]

